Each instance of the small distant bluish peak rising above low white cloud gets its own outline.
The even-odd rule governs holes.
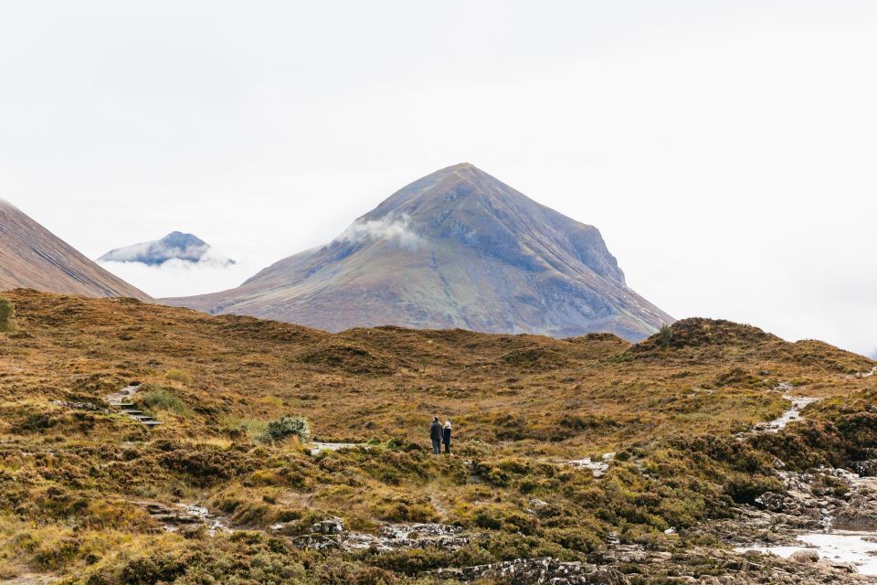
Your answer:
[[[148,266],[160,266],[171,260],[221,265],[235,263],[217,254],[203,239],[180,231],[173,231],[162,239],[110,250],[98,259],[99,262],[140,262]]]

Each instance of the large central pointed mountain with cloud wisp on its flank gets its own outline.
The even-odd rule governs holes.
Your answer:
[[[236,289],[166,303],[328,331],[396,324],[639,340],[673,321],[628,288],[596,228],[470,164],[405,186],[330,244]]]

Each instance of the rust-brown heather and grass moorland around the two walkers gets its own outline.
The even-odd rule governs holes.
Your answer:
[[[670,550],[684,528],[781,485],[770,466],[843,465],[877,446],[872,362],[755,327],[686,320],[671,339],[393,327],[329,335],[130,300],[7,293],[0,335],[0,577],[90,583],[428,582],[428,570],[519,557],[586,558],[609,533]],[[794,380],[824,397],[779,435]],[[147,430],[103,404],[140,382],[164,421]],[[455,454],[428,449],[433,414]],[[310,455],[259,441],[307,418],[316,439],[367,446]],[[618,453],[595,478],[565,462]],[[547,505],[535,514],[530,501]],[[241,531],[166,534],[133,504],[201,502]],[[265,529],[342,516],[348,527],[440,521],[477,537],[458,551],[302,551]],[[683,536],[666,535],[667,528]],[[643,578],[645,579],[645,578]]]

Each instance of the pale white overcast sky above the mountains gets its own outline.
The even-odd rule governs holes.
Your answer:
[[[6,2],[0,195],[91,258],[237,284],[468,161],[676,317],[877,349],[877,3]]]

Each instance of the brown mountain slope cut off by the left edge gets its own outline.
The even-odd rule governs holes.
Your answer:
[[[0,199],[0,290],[152,300]]]

